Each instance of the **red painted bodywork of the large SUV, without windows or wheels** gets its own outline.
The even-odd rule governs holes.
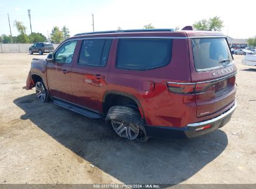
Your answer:
[[[230,78],[224,83],[213,86],[209,93],[204,94],[177,94],[168,90],[168,81],[180,83],[196,83],[219,78],[212,75],[212,71],[197,73],[194,68],[190,36],[222,35],[217,32],[207,31],[179,31],[179,32],[131,32],[117,34],[92,34],[72,37],[77,39],[77,47],[70,65],[47,63],[44,60],[33,60],[31,73],[27,78],[27,89],[31,85],[31,75],[34,73],[42,76],[45,86],[51,96],[65,99],[72,103],[103,112],[103,101],[107,93],[121,93],[136,99],[142,118],[150,126],[184,127],[193,122],[214,118],[227,111],[235,99],[235,78]],[[78,65],[77,59],[85,37],[184,37],[173,39],[173,53],[171,62],[160,68],[137,71],[122,70],[115,67],[118,39],[113,39],[108,62],[105,67],[89,67]],[[68,39],[69,40],[69,39]],[[65,41],[63,42],[65,43]],[[47,66],[46,66],[47,65]],[[63,70],[69,73],[63,73]],[[222,70],[225,70],[222,69]],[[237,70],[232,66],[232,71]],[[220,70],[221,71],[221,70]],[[224,76],[222,75],[222,76]],[[225,83],[226,82],[226,83]],[[229,85],[227,93],[216,96],[224,85]],[[57,86],[60,91],[54,90]],[[179,86],[180,87],[180,86]],[[204,86],[196,85],[197,90]],[[191,92],[194,88],[187,85],[184,89]],[[211,89],[209,89],[211,90]],[[224,91],[223,91],[224,93]],[[209,111],[209,113],[207,113]],[[205,114],[204,114],[205,113]]]

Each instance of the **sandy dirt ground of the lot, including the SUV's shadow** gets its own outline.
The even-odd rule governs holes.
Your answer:
[[[39,103],[22,90],[33,57],[0,54],[0,183],[256,183],[256,67],[241,65],[242,55],[234,55],[238,106],[226,126],[146,143]]]

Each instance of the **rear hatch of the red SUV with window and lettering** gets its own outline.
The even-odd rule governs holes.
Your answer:
[[[197,117],[228,109],[235,100],[235,74],[225,37],[192,38],[191,79],[196,83]]]

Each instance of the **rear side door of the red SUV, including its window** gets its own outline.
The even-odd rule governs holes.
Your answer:
[[[107,91],[108,53],[111,39],[82,41],[77,63],[72,67],[73,103],[102,112],[102,99]]]

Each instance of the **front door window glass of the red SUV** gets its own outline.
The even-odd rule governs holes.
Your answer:
[[[77,45],[77,40],[71,40],[65,42],[58,50],[54,53],[54,62],[57,63],[71,63],[73,59],[73,52],[75,51],[75,46]]]

